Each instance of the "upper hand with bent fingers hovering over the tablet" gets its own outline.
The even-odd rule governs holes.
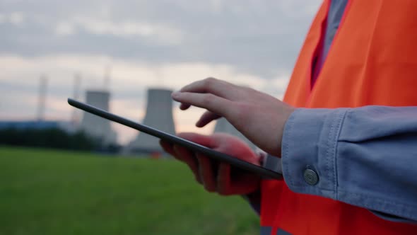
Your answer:
[[[197,127],[225,117],[247,139],[274,156],[281,156],[283,127],[295,110],[266,93],[212,78],[184,86],[172,93],[172,98],[182,103],[182,110],[190,105],[207,110]]]

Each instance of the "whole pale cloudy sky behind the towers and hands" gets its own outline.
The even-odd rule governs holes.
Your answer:
[[[177,90],[209,76],[282,98],[320,3],[0,0],[0,120],[37,117],[41,76],[47,120],[71,119],[66,98],[74,96],[76,74],[81,100],[87,89],[109,89],[110,111],[138,121],[147,88]],[[194,127],[204,110],[177,107],[177,132],[213,130]],[[122,144],[137,134],[112,127]]]

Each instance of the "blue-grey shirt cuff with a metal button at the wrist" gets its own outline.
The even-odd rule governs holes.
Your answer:
[[[281,152],[290,190],[336,200],[336,147],[347,110],[298,108],[290,115]]]

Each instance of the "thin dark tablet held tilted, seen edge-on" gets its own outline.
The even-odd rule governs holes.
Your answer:
[[[271,171],[269,169],[263,168],[262,166],[257,166],[254,164],[250,164],[247,161],[243,161],[240,159],[237,159],[233,156],[229,156],[228,154],[223,154],[219,151],[214,151],[213,149],[209,149],[208,147],[204,147],[200,144],[196,144],[194,142],[190,142],[187,139],[183,139],[180,137],[177,137],[173,134],[168,134],[166,132],[162,132],[160,130],[157,130],[153,127],[148,127],[146,125],[142,125],[140,123],[134,122],[132,120],[128,120],[124,117],[120,117],[118,115],[114,115],[112,113],[109,113],[105,110],[102,110],[100,108],[96,108],[92,105],[88,105],[86,103],[82,103],[79,101],[76,101],[74,99],[68,98],[69,105],[74,106],[75,108],[79,108],[81,110],[84,110],[88,113],[92,113],[94,115],[98,115],[100,117],[103,117],[108,120],[112,120],[113,122],[120,123],[122,125],[125,125],[127,127],[131,127],[135,130],[139,130],[140,132],[151,134],[154,137],[157,137],[159,139],[163,139],[167,142],[170,142],[172,144],[178,144],[182,147],[185,147],[187,149],[190,149],[195,152],[199,152],[201,154],[204,154],[207,157],[210,157],[211,159],[215,159],[217,161],[224,161],[231,166],[235,166],[237,168],[240,168],[245,171],[249,171],[251,173],[255,173],[259,176],[262,176],[264,178],[273,178],[273,179],[281,179],[282,175],[276,171]]]

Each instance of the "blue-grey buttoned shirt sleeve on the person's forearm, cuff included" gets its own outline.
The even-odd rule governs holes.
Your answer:
[[[282,164],[296,193],[417,222],[417,107],[295,110],[284,128]]]

